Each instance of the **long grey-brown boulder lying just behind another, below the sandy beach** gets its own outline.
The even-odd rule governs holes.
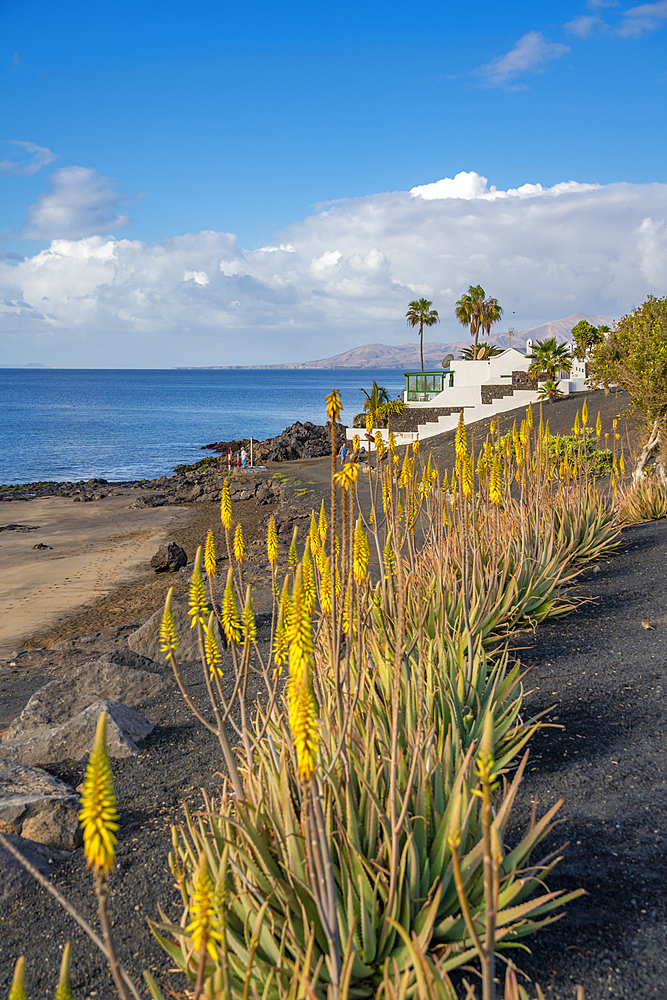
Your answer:
[[[113,662],[111,656],[119,658],[115,653],[84,663],[35,691],[19,717],[2,734],[0,752],[5,743],[23,739],[33,729],[53,729],[67,723],[100,699],[136,708],[165,689],[166,681],[159,674]],[[138,659],[144,662],[143,657]]]

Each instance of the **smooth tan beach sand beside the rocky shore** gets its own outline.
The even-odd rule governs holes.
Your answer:
[[[132,509],[136,493],[90,503],[50,497],[0,507],[0,657],[145,572],[189,507]],[[48,549],[35,550],[42,543]]]

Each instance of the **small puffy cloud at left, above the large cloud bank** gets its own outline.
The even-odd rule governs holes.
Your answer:
[[[85,239],[129,225],[129,217],[118,211],[111,178],[87,167],[63,167],[49,180],[49,190],[28,209],[24,239]]]

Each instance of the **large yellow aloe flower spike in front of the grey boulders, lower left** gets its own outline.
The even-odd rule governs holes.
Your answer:
[[[95,743],[83,779],[79,812],[88,868],[92,868],[99,878],[104,878],[113,868],[116,853],[115,831],[120,829],[107,753],[106,724],[107,713],[102,712],[97,720]]]

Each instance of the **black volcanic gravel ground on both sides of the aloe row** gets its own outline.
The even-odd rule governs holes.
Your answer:
[[[554,406],[554,416],[561,405]],[[559,417],[571,426],[573,414],[565,407]],[[443,453],[450,448],[448,440],[434,445]],[[293,467],[312,487],[306,502],[317,498],[319,504],[324,494],[326,460],[320,465],[321,473],[316,464]],[[514,829],[527,822],[534,800],[544,812],[563,798],[563,822],[546,849],[563,841],[569,846],[549,885],[587,891],[563,920],[529,942],[532,954],[516,956],[549,1000],[573,1000],[575,983],[585,987],[587,1000],[667,997],[666,550],[667,521],[626,529],[619,551],[580,578],[578,593],[588,598],[586,603],[514,641],[522,662],[533,667],[527,713],[554,706],[550,721],[563,727],[545,729],[532,742]],[[644,616],[653,629],[642,627]],[[77,639],[72,628],[64,645],[21,654],[16,666],[0,674],[0,728],[53,671],[122,644],[130,630],[118,624]],[[197,668],[188,671],[188,683],[201,696]],[[110,904],[121,960],[137,979],[148,969],[176,995],[182,994],[183,979],[170,975],[171,963],[152,938],[147,919],[157,918],[158,905],[170,917],[180,912],[167,865],[170,824],[182,816],[183,802],[197,808],[200,789],[219,789],[222,763],[217,742],[175,691],[142,711],[155,731],[138,757],[113,762],[122,828]],[[84,768],[65,763],[48,770],[76,786]],[[54,862],[53,868],[60,891],[95,926],[82,852]],[[52,996],[67,940],[72,941],[77,1000],[111,997],[103,959],[36,884],[0,910],[0,996],[8,992],[21,953],[27,959],[28,996]]]

